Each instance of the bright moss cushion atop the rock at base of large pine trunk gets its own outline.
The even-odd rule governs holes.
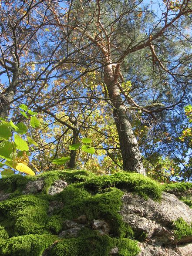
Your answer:
[[[86,189],[94,192],[101,192],[109,187],[126,189],[129,192],[135,192],[142,195],[145,199],[148,196],[159,200],[162,195],[162,186],[154,180],[138,173],[118,172],[113,175],[96,176],[84,182]]]

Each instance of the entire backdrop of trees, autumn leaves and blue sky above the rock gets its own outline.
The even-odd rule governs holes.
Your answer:
[[[190,0],[2,0],[4,174],[192,179],[191,19]]]

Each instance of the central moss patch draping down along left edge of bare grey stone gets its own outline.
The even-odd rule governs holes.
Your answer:
[[[119,211],[122,206],[123,192],[116,188],[109,189],[104,194],[90,195],[86,198],[74,199],[73,201],[64,198],[64,207],[60,214],[64,219],[75,219],[78,216],[86,215],[88,220],[106,219],[111,224],[111,232],[120,237],[132,237],[132,229],[122,220]]]

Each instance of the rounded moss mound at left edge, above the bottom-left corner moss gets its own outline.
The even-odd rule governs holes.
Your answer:
[[[35,195],[22,195],[0,202],[0,223],[10,236],[46,232],[48,202]]]

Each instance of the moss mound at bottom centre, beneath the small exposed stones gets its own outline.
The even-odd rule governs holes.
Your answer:
[[[139,252],[136,241],[113,239],[107,235],[100,236],[96,231],[83,229],[77,238],[59,241],[48,256],[108,256],[115,246],[118,246],[120,256],[136,256]]]

